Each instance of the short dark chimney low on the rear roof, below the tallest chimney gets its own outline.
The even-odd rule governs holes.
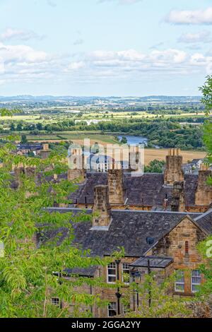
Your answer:
[[[184,182],[175,182],[172,190],[172,203],[173,212],[184,212],[185,198],[184,198]]]

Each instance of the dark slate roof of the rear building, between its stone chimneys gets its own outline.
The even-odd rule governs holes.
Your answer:
[[[69,196],[73,203],[93,204],[93,190],[98,184],[107,184],[107,173],[88,173],[85,184]],[[198,175],[185,174],[186,206],[195,205],[195,191],[198,185]],[[126,204],[134,206],[163,206],[167,195],[169,203],[172,197],[172,187],[163,186],[163,174],[145,173],[141,177],[131,177],[124,173],[124,189],[126,190]]]

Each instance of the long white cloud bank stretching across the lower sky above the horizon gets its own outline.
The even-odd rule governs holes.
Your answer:
[[[191,51],[192,53],[192,51]],[[4,45],[0,42],[1,80],[13,82],[98,83],[107,81],[140,82],[151,77],[192,76],[209,73],[211,54],[181,49],[153,49],[139,52],[124,49],[117,52],[96,50],[90,53],[57,56],[26,45]]]

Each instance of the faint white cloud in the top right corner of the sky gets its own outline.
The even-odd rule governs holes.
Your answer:
[[[175,24],[212,24],[212,7],[198,11],[170,11],[165,20]]]

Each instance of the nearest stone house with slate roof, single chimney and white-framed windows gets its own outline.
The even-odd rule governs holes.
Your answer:
[[[109,189],[106,185],[95,187],[92,221],[73,224],[73,245],[83,250],[90,250],[91,256],[112,256],[118,247],[124,247],[124,257],[112,261],[107,267],[93,266],[88,271],[69,270],[88,278],[102,276],[106,283],[124,281],[124,286],[117,289],[92,289],[92,294],[100,294],[102,300],[109,302],[107,307],[93,307],[95,317],[108,317],[123,314],[126,310],[124,299],[129,283],[134,278],[142,283],[143,275],[157,271],[158,281],[176,272],[179,277],[172,288],[177,296],[192,296],[203,281],[199,266],[201,256],[196,244],[212,234],[212,210],[206,213],[184,213],[172,211],[131,211],[111,210]],[[49,211],[55,211],[49,209]],[[78,208],[57,208],[56,211],[74,214],[81,213]],[[98,213],[97,213],[98,212]],[[59,230],[61,239],[66,237],[66,229]],[[51,235],[49,235],[51,236]],[[52,236],[55,236],[52,235]],[[90,292],[91,290],[89,290]],[[136,310],[139,306],[139,294],[131,299],[130,306]]]

